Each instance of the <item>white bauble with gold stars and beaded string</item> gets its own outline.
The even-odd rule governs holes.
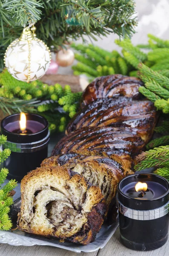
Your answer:
[[[49,68],[51,53],[40,39],[34,38],[29,27],[24,28],[20,38],[6,49],[4,63],[9,73],[21,81],[34,81]]]

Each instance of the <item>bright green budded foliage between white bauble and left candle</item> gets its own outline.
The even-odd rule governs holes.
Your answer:
[[[0,73],[0,109],[5,114],[39,113],[49,121],[51,131],[64,131],[76,113],[82,93],[72,93],[69,85],[29,84],[14,79],[7,70]]]

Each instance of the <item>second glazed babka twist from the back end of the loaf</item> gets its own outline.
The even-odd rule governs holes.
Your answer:
[[[154,104],[149,100],[126,97],[97,99],[86,105],[69,122],[66,134],[83,127],[131,128],[142,140],[149,141],[156,123]]]

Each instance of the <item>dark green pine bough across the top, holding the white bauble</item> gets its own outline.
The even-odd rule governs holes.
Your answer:
[[[130,37],[135,32],[133,0],[2,0],[0,2],[0,66],[11,41],[20,37],[23,26],[36,23],[37,38],[57,50],[69,38],[116,33]],[[69,20],[77,20],[74,25]]]

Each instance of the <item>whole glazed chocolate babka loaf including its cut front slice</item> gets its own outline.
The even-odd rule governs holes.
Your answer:
[[[154,105],[138,92],[142,85],[122,75],[88,85],[52,157],[21,182],[20,230],[81,244],[95,239],[118,182],[132,173],[155,127]]]

